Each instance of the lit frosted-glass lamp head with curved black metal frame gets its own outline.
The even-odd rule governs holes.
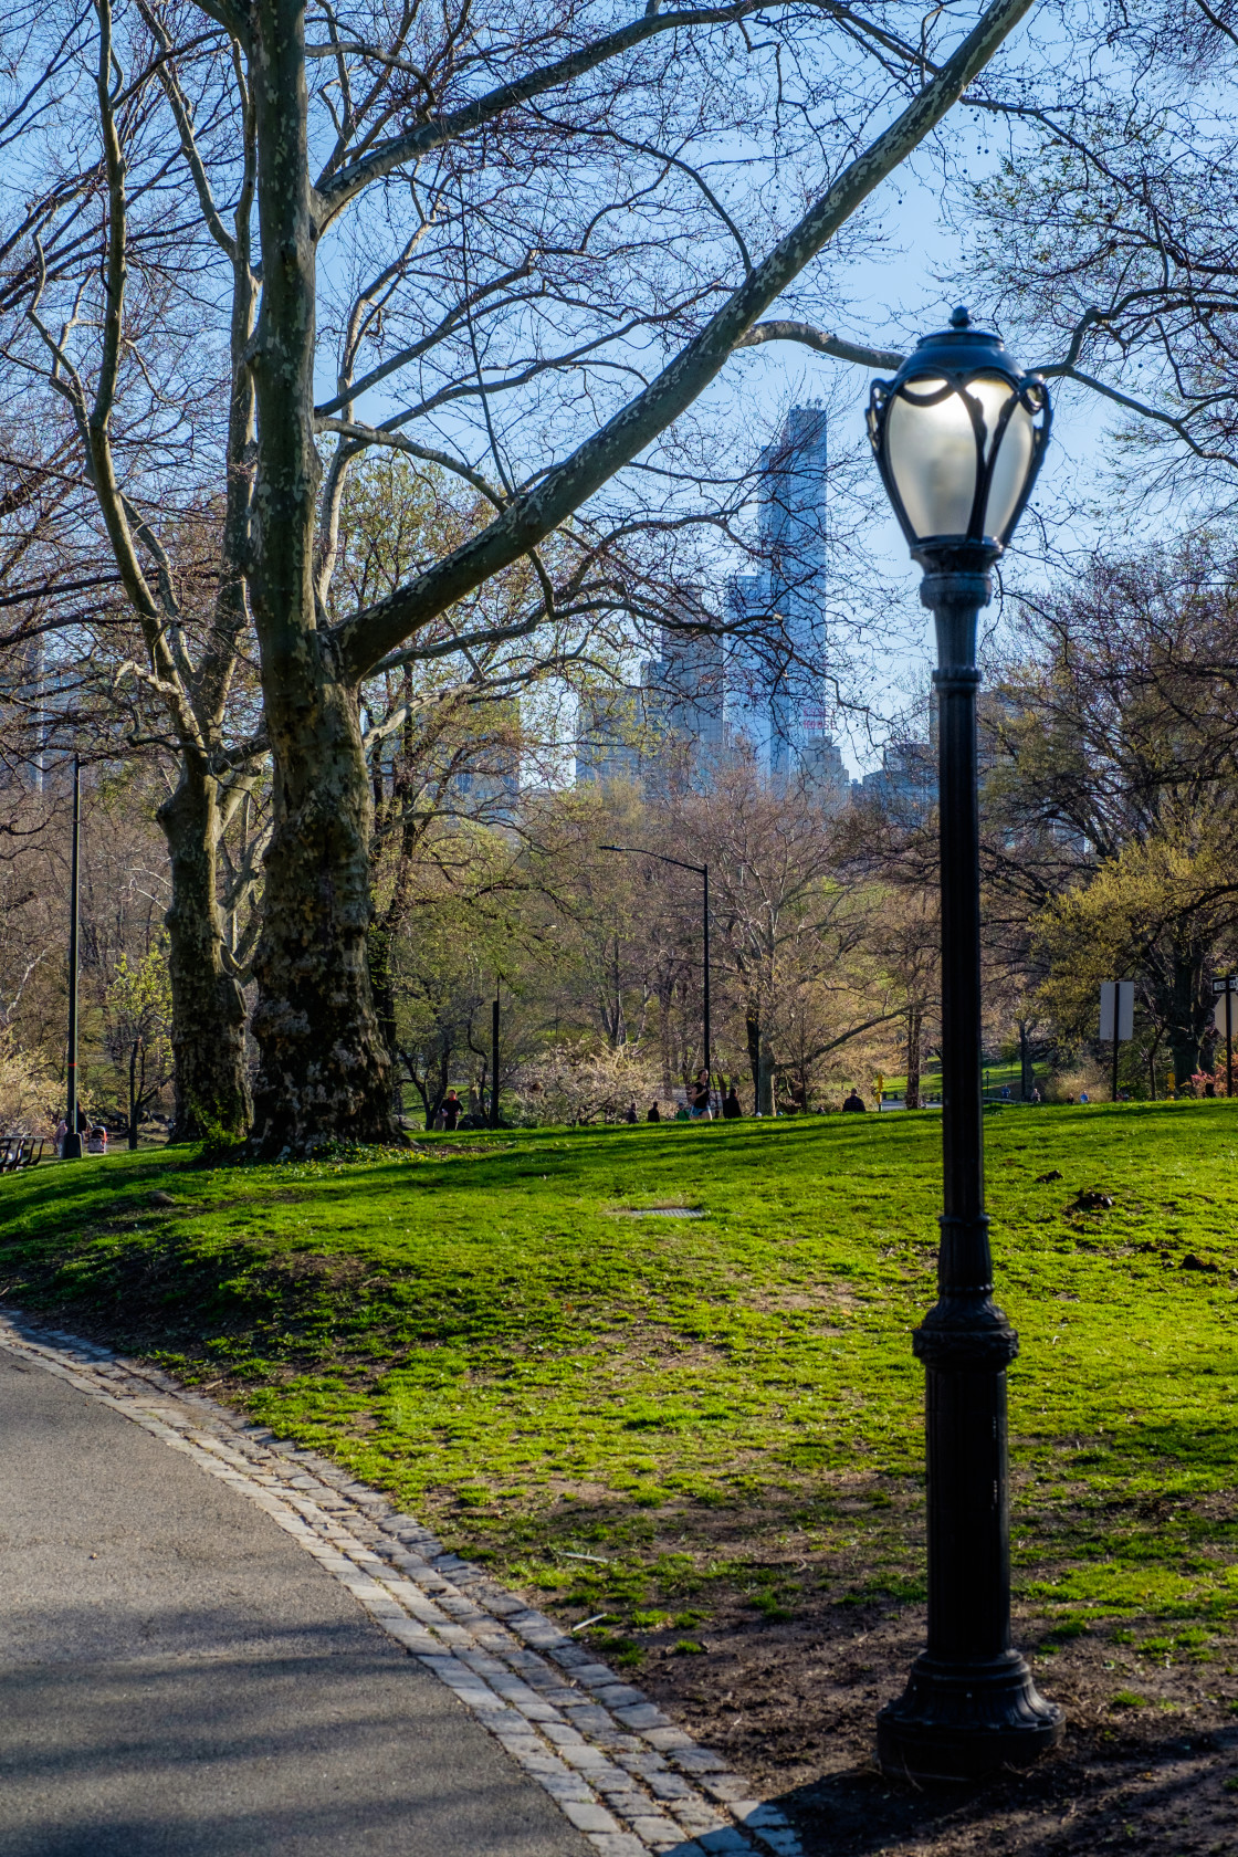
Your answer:
[[[1049,388],[965,308],[874,381],[869,438],[911,552],[1010,540],[1049,440]]]

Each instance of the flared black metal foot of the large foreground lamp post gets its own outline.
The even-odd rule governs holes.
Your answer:
[[[876,1757],[891,1779],[987,1779],[1034,1766],[1064,1727],[1017,1651],[965,1664],[922,1653],[904,1694],[876,1718]]]

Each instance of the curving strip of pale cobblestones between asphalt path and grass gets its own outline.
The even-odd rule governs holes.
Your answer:
[[[460,1697],[600,1857],[800,1857],[791,1822],[752,1799],[720,1755],[347,1471],[154,1367],[15,1309],[0,1309],[0,1346],[111,1406],[265,1510]]]

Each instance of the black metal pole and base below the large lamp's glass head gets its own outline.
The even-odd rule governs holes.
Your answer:
[[[917,559],[937,620],[945,1209],[937,1302],[913,1337],[926,1380],[928,1643],[878,1716],[878,1757],[889,1773],[973,1779],[1039,1759],[1064,1718],[1010,1643],[1006,1369],[1019,1339],[993,1302],[984,1211],[976,620],[997,548]]]

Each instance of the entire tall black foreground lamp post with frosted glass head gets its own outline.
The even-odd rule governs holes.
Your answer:
[[[1049,392],[965,308],[874,381],[869,438],[924,570],[937,624],[941,821],[941,1142],[937,1302],[915,1330],[924,1365],[928,1642],[878,1716],[891,1775],[978,1779],[1062,1738],[1010,1643],[1006,1369],[1019,1337],[993,1302],[984,1211],[976,620],[1049,442]]]

